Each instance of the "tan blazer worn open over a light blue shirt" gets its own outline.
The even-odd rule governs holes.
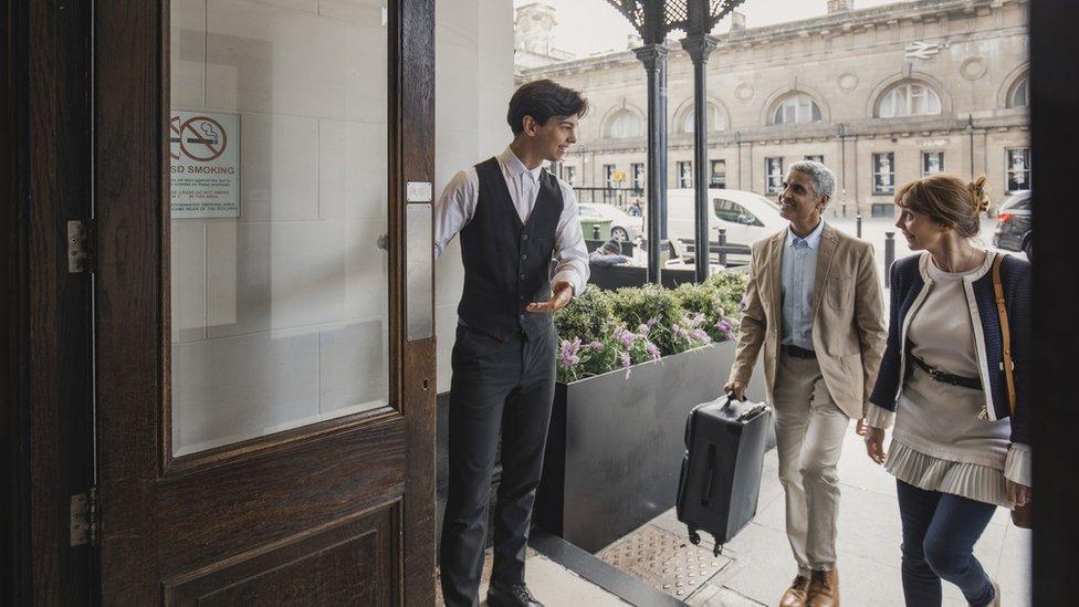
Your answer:
[[[755,242],[731,380],[750,381],[764,346],[768,400],[775,388],[783,322],[781,281],[787,230]],[[888,327],[873,247],[825,223],[813,287],[813,347],[836,405],[855,419],[869,402]]]

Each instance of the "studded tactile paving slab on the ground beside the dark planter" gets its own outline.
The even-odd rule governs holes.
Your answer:
[[[694,546],[685,537],[652,525],[638,528],[604,548],[598,556],[681,599],[700,589],[731,562],[725,556],[714,556],[711,548]]]

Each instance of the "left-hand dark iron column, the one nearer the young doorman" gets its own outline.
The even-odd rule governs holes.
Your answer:
[[[660,243],[667,192],[663,179],[667,172],[667,148],[662,147],[663,132],[667,129],[667,113],[663,112],[661,72],[667,64],[667,46],[646,44],[635,49],[637,59],[645,64],[648,76],[648,282],[660,284]]]

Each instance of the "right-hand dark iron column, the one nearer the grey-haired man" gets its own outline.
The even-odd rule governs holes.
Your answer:
[[[682,49],[693,60],[693,236],[696,240],[696,282],[704,282],[708,278],[709,259],[712,257],[708,234],[708,84],[704,67],[716,42],[719,40],[709,34],[682,39]]]

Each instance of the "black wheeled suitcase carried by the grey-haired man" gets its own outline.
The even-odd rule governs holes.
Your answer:
[[[705,531],[719,554],[756,514],[771,423],[767,405],[727,395],[690,411],[675,507],[693,544]]]

